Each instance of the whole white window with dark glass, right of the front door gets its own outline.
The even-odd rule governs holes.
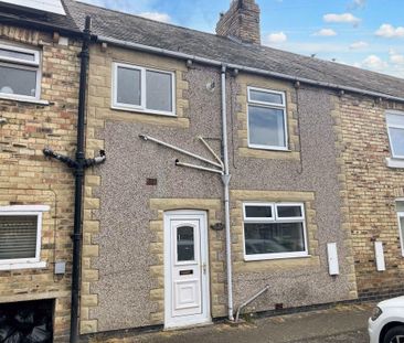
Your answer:
[[[244,203],[244,259],[308,256],[302,203]]]

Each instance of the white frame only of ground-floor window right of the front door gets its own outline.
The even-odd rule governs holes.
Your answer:
[[[270,218],[254,218],[254,217],[246,217],[246,206],[270,206],[273,211],[273,216]],[[299,217],[281,217],[278,218],[277,206],[299,206],[301,210],[301,216]],[[262,224],[262,223],[302,223],[304,228],[304,244],[305,250],[304,251],[293,251],[293,253],[274,253],[274,254],[254,254],[247,255],[245,248],[245,227],[244,224]],[[285,259],[285,258],[301,258],[301,257],[309,257],[308,250],[308,242],[307,242],[307,229],[306,229],[306,216],[305,216],[305,204],[304,203],[289,203],[289,202],[281,202],[281,203],[262,203],[262,202],[254,202],[254,203],[243,203],[243,253],[244,253],[244,260],[246,261],[257,261],[257,260],[267,260],[267,259]]]

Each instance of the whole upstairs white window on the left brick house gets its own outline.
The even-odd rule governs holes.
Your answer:
[[[0,97],[40,100],[40,52],[0,43]]]

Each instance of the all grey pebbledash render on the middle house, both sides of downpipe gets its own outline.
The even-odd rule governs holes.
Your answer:
[[[98,294],[98,306],[92,310],[91,318],[98,320],[99,331],[150,323],[150,312],[155,309],[148,302],[149,291],[153,287],[149,266],[153,256],[148,250],[148,243],[151,239],[149,221],[155,214],[149,210],[149,199],[222,197],[220,176],[178,168],[174,165],[177,158],[188,162],[194,160],[152,142],[145,142],[138,137],[147,133],[210,158],[209,152],[195,140],[201,135],[209,138],[214,149],[220,151],[219,71],[196,65],[189,69],[187,79],[190,85],[189,129],[114,120],[110,117],[105,129],[98,132],[98,138],[105,140],[108,156],[107,162],[99,169],[103,180],[97,194],[100,199],[100,233],[96,238],[99,257],[95,259],[94,266],[99,270],[99,280],[92,286],[92,293]],[[213,93],[206,90],[206,83],[212,79],[216,84]],[[234,81],[232,83],[233,86],[228,86],[227,90],[235,101],[237,86]],[[233,122],[233,128],[228,129],[233,174],[231,187],[315,192],[320,266],[235,274],[236,306],[267,283],[270,285],[270,291],[254,304],[257,310],[269,310],[280,302],[295,307],[349,297],[349,266],[344,258],[345,237],[340,229],[339,170],[330,114],[332,95],[318,88],[300,88],[297,96],[301,161],[237,157],[237,122],[230,120]],[[228,116],[235,116],[235,103],[228,100],[228,105],[233,110]],[[156,178],[158,184],[146,185],[147,178]],[[338,277],[328,275],[326,244],[329,242],[338,243],[342,262]]]

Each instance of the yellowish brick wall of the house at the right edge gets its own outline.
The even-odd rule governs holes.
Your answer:
[[[395,200],[403,196],[404,171],[386,167],[391,157],[385,109],[403,104],[359,96],[340,100],[341,157],[344,162],[348,213],[354,249],[359,297],[404,292]],[[374,242],[382,242],[386,270],[376,271]]]

